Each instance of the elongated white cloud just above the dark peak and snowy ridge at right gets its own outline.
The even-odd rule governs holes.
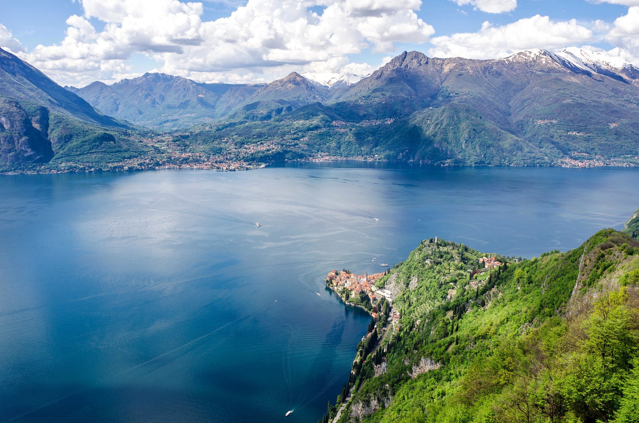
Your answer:
[[[591,29],[574,19],[554,22],[548,16],[535,15],[502,26],[493,26],[486,21],[475,33],[435,37],[431,40],[435,47],[429,50],[429,55],[437,58],[500,58],[537,47],[558,49],[580,44],[593,36]]]

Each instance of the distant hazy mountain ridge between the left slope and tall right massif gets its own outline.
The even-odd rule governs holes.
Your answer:
[[[145,73],[112,85],[93,82],[84,88],[65,88],[111,116],[171,130],[223,118],[236,111],[238,105],[254,104],[256,109],[291,106],[290,111],[309,102],[323,102],[328,98],[327,90],[348,87],[363,77],[353,73],[294,72],[270,84],[222,84]]]

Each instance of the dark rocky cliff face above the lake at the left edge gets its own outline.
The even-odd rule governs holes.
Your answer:
[[[49,111],[35,106],[27,112],[17,101],[0,98],[0,163],[46,163],[53,157]]]

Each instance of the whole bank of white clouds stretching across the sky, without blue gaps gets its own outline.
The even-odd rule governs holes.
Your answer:
[[[534,15],[501,25],[486,20],[475,32],[451,35],[436,35],[433,22],[418,16],[435,7],[421,0],[248,0],[228,17],[208,21],[203,3],[78,1],[84,14],[68,17],[61,42],[27,50],[0,22],[0,47],[61,84],[77,86],[135,76],[131,61],[140,55],[157,63],[149,71],[200,81],[270,81],[293,70],[370,73],[389,58],[366,63],[350,56],[392,56],[397,43],[424,45],[429,56],[486,59],[606,42],[610,53],[639,63],[639,0],[591,0],[629,6],[614,22]],[[448,1],[492,14],[518,6],[516,0]]]

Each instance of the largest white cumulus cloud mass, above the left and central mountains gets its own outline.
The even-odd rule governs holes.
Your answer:
[[[208,22],[201,3],[79,1],[84,15],[66,21],[64,40],[21,54],[56,81],[78,85],[118,79],[135,54],[155,59],[162,72],[203,81],[339,72],[348,54],[391,52],[397,42],[424,43],[435,33],[415,13],[421,0],[247,0]]]

